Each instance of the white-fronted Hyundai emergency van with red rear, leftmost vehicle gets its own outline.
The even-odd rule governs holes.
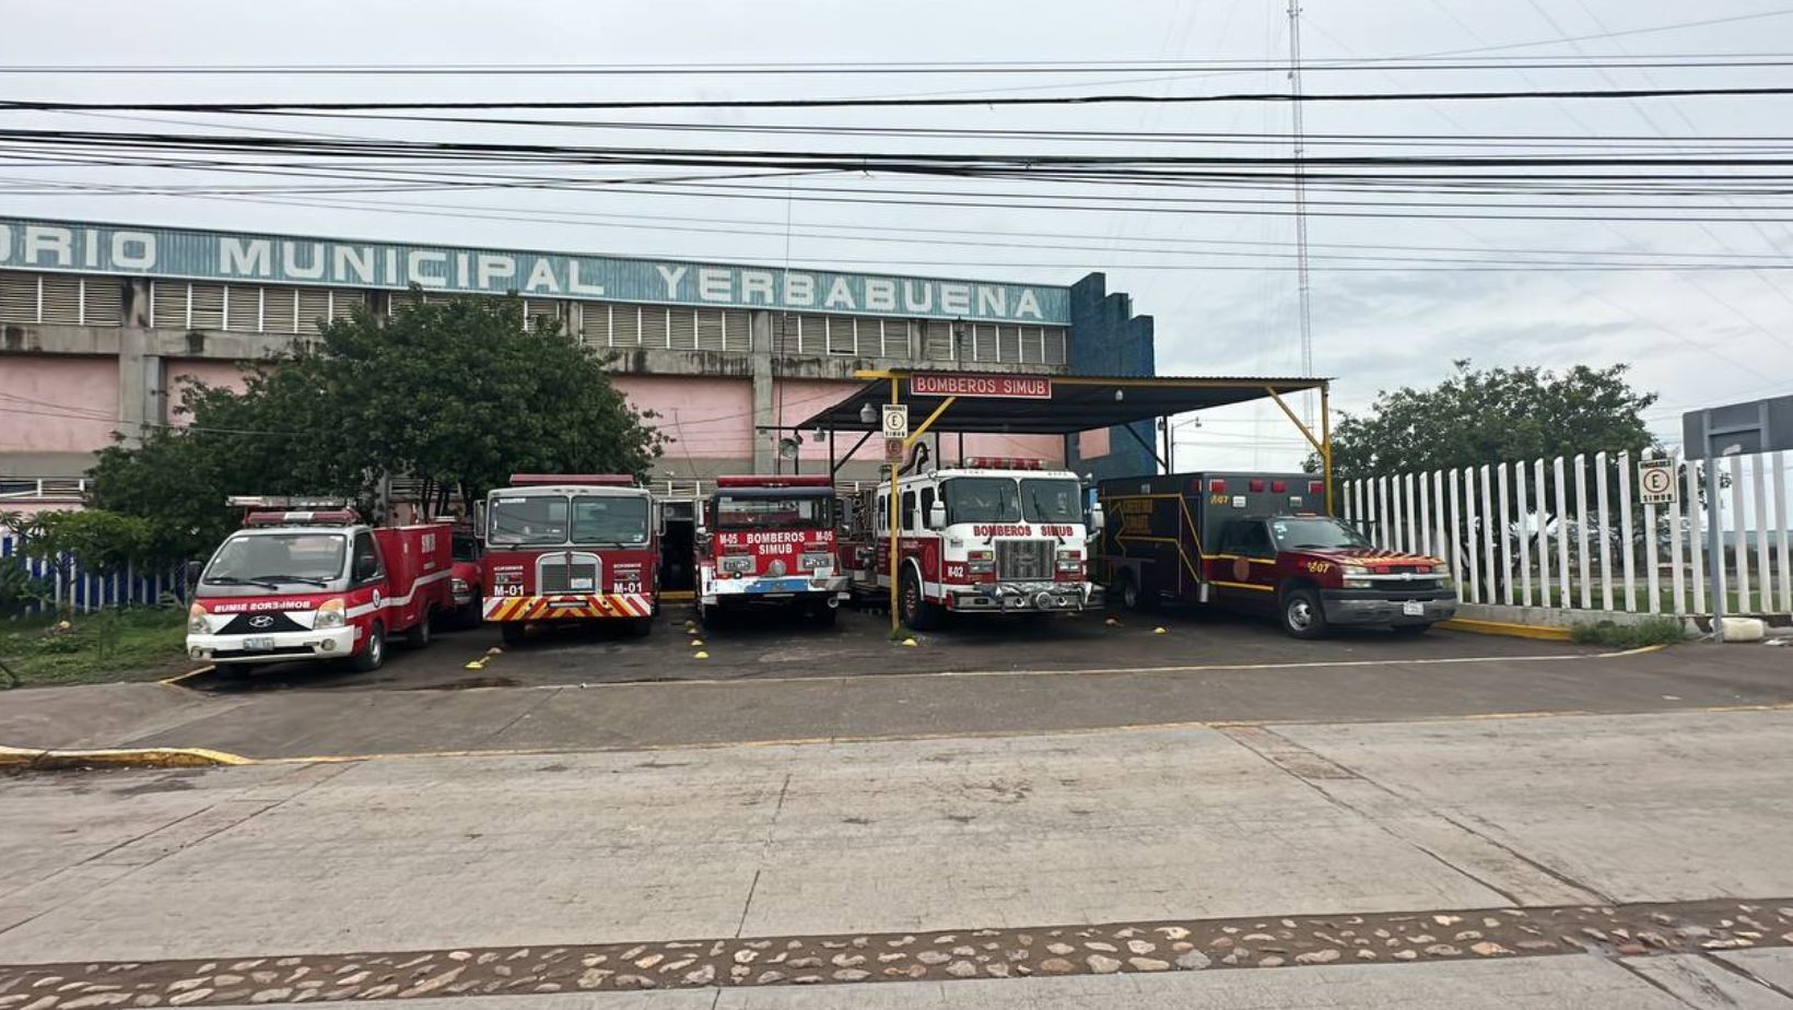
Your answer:
[[[344,501],[233,497],[253,511],[199,572],[186,655],[213,664],[325,658],[359,671],[446,615],[448,527],[366,526]]]

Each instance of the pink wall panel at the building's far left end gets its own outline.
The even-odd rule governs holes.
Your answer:
[[[117,427],[117,359],[0,359],[0,450],[99,452],[111,445]]]

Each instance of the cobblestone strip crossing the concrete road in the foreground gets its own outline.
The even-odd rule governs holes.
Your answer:
[[[0,1010],[412,999],[1793,945],[1793,899],[1203,919],[1036,929],[0,965]]]

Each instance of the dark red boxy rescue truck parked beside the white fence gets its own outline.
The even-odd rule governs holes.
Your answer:
[[[1314,639],[1332,624],[1420,633],[1456,614],[1451,569],[1384,551],[1325,513],[1312,474],[1169,474],[1103,481],[1096,567],[1133,610],[1158,603],[1275,614]]]

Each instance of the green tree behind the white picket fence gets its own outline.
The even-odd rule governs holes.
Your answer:
[[[1332,472],[1352,479],[1578,452],[1635,454],[1655,445],[1642,413],[1657,395],[1632,389],[1626,368],[1578,364],[1558,375],[1481,371],[1458,361],[1431,389],[1384,391],[1366,413],[1341,413],[1332,427]]]

